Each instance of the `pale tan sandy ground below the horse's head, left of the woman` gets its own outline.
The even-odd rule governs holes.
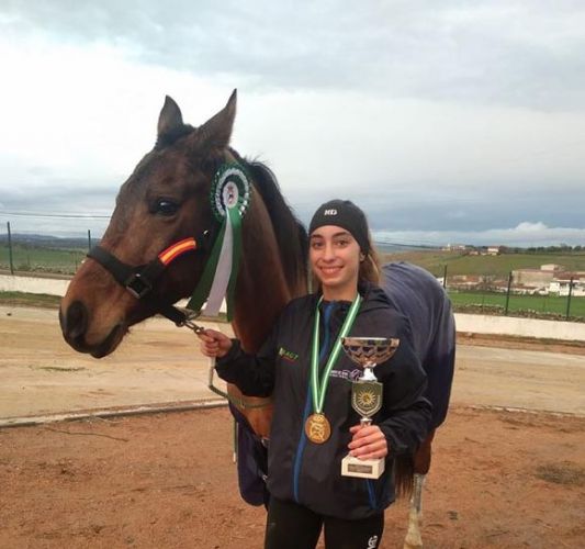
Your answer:
[[[210,361],[193,334],[165,320],[142,324],[114,355],[95,360],[67,346],[56,311],[0,306],[0,425],[64,412],[217,401],[207,389]]]

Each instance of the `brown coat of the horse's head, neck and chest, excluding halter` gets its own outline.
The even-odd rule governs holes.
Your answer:
[[[224,163],[245,164],[254,180],[250,211],[243,220],[246,251],[233,323],[244,348],[256,351],[284,305],[306,292],[305,229],[286,206],[271,171],[259,163],[246,163],[229,148],[235,114],[235,91],[221,112],[196,128],[183,124],[177,103],[166,99],[156,145],[122,186],[100,247],[114,261],[135,266],[137,272],[173,243],[194,238],[196,249],[169,264],[143,299],[126,291],[132,288],[119,283],[90,255],[71,280],[59,311],[64,337],[74,349],[104,357],[130,326],[191,295],[207,258],[207,240],[217,232],[210,186]],[[254,430],[268,436],[268,401],[243,397],[237,388],[228,389]]]

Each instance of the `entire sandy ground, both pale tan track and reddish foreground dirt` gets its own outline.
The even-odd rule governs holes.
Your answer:
[[[470,343],[434,446],[426,547],[583,547],[583,348]],[[0,348],[4,424],[216,399],[193,336],[160,321],[95,361],[63,343],[55,311],[0,307]],[[0,547],[261,547],[232,449],[225,408],[0,429]],[[383,547],[401,546],[405,515],[389,509]]]

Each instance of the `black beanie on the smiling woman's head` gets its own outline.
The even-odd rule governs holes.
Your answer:
[[[329,200],[322,204],[308,225],[308,235],[325,225],[336,225],[348,231],[360,245],[361,251],[370,251],[368,221],[363,212],[350,200]]]

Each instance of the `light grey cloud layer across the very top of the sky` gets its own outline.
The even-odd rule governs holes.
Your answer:
[[[12,27],[250,88],[585,108],[585,9],[497,2],[9,2]]]

